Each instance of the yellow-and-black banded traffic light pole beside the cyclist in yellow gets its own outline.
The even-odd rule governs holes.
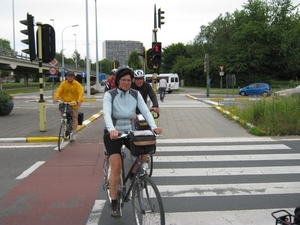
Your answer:
[[[40,100],[39,100],[39,125],[40,131],[46,131],[46,105],[44,100],[44,81],[43,81],[43,44],[42,44],[42,23],[37,22],[38,26],[38,59],[39,59],[39,84],[40,84]]]

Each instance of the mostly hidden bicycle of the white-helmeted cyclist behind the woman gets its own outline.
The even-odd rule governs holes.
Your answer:
[[[153,109],[151,109],[150,112],[152,113],[154,119],[157,119],[159,117],[159,113],[155,112]],[[138,114],[136,118],[137,118],[135,124],[136,130],[151,130],[151,128],[149,127],[147,121],[145,120],[142,114]],[[133,161],[132,156],[131,159]],[[151,177],[153,173],[153,154],[151,153],[148,154],[148,158],[145,162],[144,168],[146,169],[148,176]]]

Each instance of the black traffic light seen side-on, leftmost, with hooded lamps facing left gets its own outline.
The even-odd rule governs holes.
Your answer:
[[[28,45],[28,49],[24,49],[22,52],[29,54],[31,62],[36,59],[33,19],[34,17],[27,13],[27,19],[20,21],[21,24],[27,26],[26,30],[21,30],[21,33],[28,35],[28,39],[21,40],[22,43]]]

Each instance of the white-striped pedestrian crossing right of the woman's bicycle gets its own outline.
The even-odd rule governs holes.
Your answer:
[[[166,224],[266,225],[275,224],[275,210],[293,212],[300,205],[300,153],[260,140],[158,140],[152,178]]]

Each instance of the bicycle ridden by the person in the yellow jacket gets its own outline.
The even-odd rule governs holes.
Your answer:
[[[59,111],[62,112],[62,118],[58,133],[58,151],[64,147],[65,140],[72,141],[73,135],[73,119],[71,113],[73,111],[71,105],[76,105],[77,102],[62,102],[59,104]]]

